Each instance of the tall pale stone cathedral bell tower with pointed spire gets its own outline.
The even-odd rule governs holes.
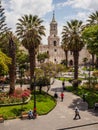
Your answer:
[[[56,64],[59,60],[59,42],[57,22],[55,20],[55,13],[53,12],[52,21],[50,22],[50,35],[48,36],[48,53],[50,55],[50,61]]]

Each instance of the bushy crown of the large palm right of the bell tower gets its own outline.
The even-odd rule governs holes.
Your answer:
[[[80,51],[83,46],[83,39],[81,32],[83,29],[82,21],[71,20],[67,22],[67,26],[63,27],[62,42],[67,45],[67,48],[71,51]]]

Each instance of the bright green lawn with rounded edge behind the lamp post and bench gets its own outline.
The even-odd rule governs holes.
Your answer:
[[[17,118],[21,116],[21,111],[28,112],[30,109],[33,109],[33,95],[31,100],[24,105],[15,105],[15,106],[5,106],[0,107],[0,114],[4,116],[4,119]],[[56,105],[56,101],[50,95],[43,93],[36,93],[36,108],[38,115],[47,114],[51,111]]]

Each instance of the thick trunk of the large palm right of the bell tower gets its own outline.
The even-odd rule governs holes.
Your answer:
[[[79,60],[79,52],[73,52],[74,57],[74,79],[78,79],[78,60]]]

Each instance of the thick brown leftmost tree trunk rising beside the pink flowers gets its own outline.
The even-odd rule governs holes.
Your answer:
[[[9,94],[13,94],[15,90],[15,80],[16,80],[16,46],[12,38],[9,39],[9,56],[12,59],[12,63],[9,66],[9,78],[10,78]]]

